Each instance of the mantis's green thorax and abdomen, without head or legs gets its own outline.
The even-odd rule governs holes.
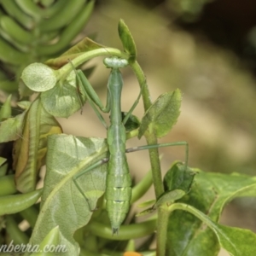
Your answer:
[[[110,123],[108,127],[108,175],[107,211],[113,233],[118,232],[130,208],[131,176],[125,154],[125,125],[122,123],[120,93],[123,81],[118,69],[113,69],[108,79],[108,91],[112,99]],[[111,88],[109,88],[111,87]]]

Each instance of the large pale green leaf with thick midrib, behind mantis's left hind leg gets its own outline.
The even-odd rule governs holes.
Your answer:
[[[106,165],[79,177],[78,182],[89,197],[90,207],[73,183],[73,176],[83,172],[97,160],[106,157],[107,144],[102,138],[53,135],[48,140],[47,172],[44,180],[41,211],[33,230],[32,245],[39,244],[56,225],[60,227],[60,244],[67,246],[67,253],[79,255],[79,246],[73,240],[78,230],[90,220],[90,207],[96,207],[106,186]],[[49,221],[50,220],[50,221]]]

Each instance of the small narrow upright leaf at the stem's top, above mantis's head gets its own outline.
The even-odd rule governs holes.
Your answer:
[[[119,20],[119,38],[122,41],[125,52],[130,55],[129,62],[136,61],[136,57],[137,57],[136,44],[124,20]]]

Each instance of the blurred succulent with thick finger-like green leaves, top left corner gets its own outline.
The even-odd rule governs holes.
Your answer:
[[[94,1],[2,0],[0,6],[0,90],[14,94],[24,67],[70,46],[89,20]],[[19,92],[27,96],[30,90],[20,86]]]

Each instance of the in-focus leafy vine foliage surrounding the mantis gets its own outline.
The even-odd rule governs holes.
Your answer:
[[[124,251],[135,249],[140,252],[137,255],[217,255],[220,247],[224,247],[230,255],[253,255],[256,250],[255,234],[250,230],[218,224],[218,219],[223,208],[232,199],[255,196],[256,177],[237,173],[207,173],[189,168],[187,163],[183,165],[177,161],[172,164],[162,181],[158,166],[159,155],[154,148],[150,148],[152,177],[151,172],[148,172],[149,174],[134,186],[131,203],[141,197],[153,183],[155,200],[143,213],[157,212],[157,215],[154,214],[141,223],[136,223],[132,219],[131,224],[120,227],[117,236],[112,234],[103,196],[106,166],[102,165],[87,172],[79,179],[88,201],[84,201],[83,195],[75,187],[73,176],[106,157],[108,146],[102,138],[59,134],[61,127],[55,121],[55,116],[63,114],[68,117],[79,109],[79,104],[73,108],[73,104],[78,101],[78,97],[75,97],[76,77],[73,66],[79,67],[84,61],[102,55],[114,55],[129,61],[141,87],[145,113],[143,119],[137,122],[139,128],[127,131],[127,137],[144,136],[148,144],[155,144],[157,138],[165,136],[177,121],[181,103],[180,91],[167,92],[152,103],[145,76],[137,63],[134,40],[123,20],[119,21],[119,37],[124,45],[124,51],[104,47],[84,38],[60,57],[46,62],[49,67],[55,67],[56,70],[49,70],[45,64],[31,64],[24,69],[21,79],[30,89],[40,94],[32,104],[20,104],[26,110],[15,118],[8,118],[9,112],[6,109],[10,106],[7,102],[5,112],[0,113],[4,119],[0,126],[0,134],[1,137],[3,134],[1,142],[17,140],[18,137],[25,141],[17,143],[16,154],[24,154],[26,157],[17,156],[23,168],[20,168],[19,174],[15,174],[15,182],[20,184],[16,189],[26,192],[22,195],[25,199],[20,200],[19,194],[9,195],[15,194],[15,189],[11,190],[13,192],[2,191],[0,200],[3,203],[0,210],[6,209],[5,214],[17,212],[16,216],[20,216],[18,212],[21,210],[23,213],[34,211],[37,215],[37,207],[33,205],[34,201],[29,199],[32,193],[37,193],[37,196],[41,193],[35,190],[34,181],[38,176],[39,167],[44,165],[44,148],[47,147],[47,173],[37,222],[32,221],[35,214],[23,215],[33,228],[30,244],[40,244],[41,247],[49,241],[53,245],[64,244],[67,253],[61,255],[79,255],[80,250],[80,255],[128,256],[136,254],[124,254]],[[67,60],[72,60],[73,66]],[[47,78],[40,75],[35,77],[35,74],[44,73],[42,68],[47,70]],[[70,92],[70,98],[67,91]],[[79,93],[82,94],[84,102],[83,90],[79,90]],[[48,101],[49,96],[54,96],[58,104],[51,105],[52,103]],[[19,136],[15,137],[17,134]],[[6,168],[5,160],[1,161],[1,168]],[[36,168],[32,169],[31,166]],[[20,180],[17,177],[20,177]],[[10,183],[10,186],[14,187],[13,184]],[[20,204],[17,205],[17,201]],[[26,204],[27,201],[30,203]],[[20,207],[21,204],[26,207]],[[92,212],[95,208],[97,210]],[[9,217],[7,215],[6,225],[19,219]],[[156,250],[150,251],[148,247],[155,230],[157,247]],[[9,229],[10,237],[14,233]],[[76,241],[73,238],[74,233]],[[135,248],[133,240],[143,236],[148,236],[148,239],[142,246]],[[26,238],[23,240],[26,241]],[[18,241],[21,239],[16,240],[17,243]]]

